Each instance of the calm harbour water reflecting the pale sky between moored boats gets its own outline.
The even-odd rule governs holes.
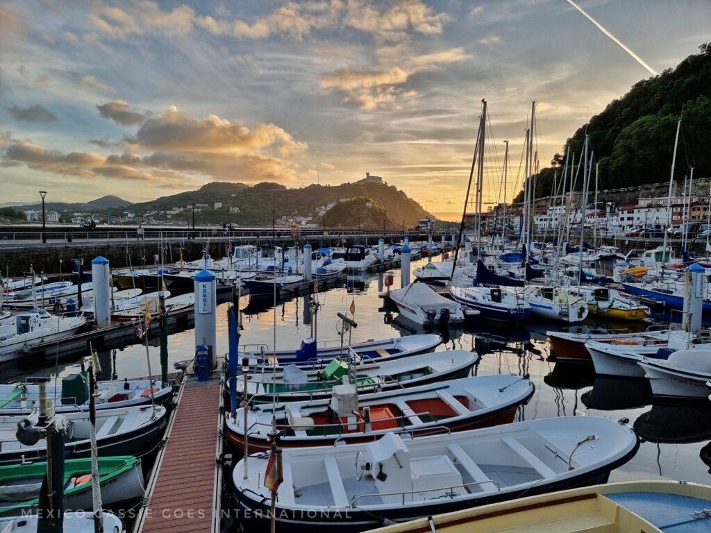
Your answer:
[[[413,262],[412,268],[423,262],[426,259]],[[345,286],[278,302],[276,307],[270,296],[260,300],[242,296],[240,343],[271,347],[274,324],[277,349],[298,346],[303,338],[312,334],[319,342],[336,340],[340,331],[336,313],[348,313],[351,305],[355,306],[358,327],[346,335],[351,335],[353,342],[418,333],[412,323],[402,323],[397,318],[397,311],[383,308],[384,299],[380,294],[385,291],[390,275],[392,288],[399,288],[399,273],[392,271],[349,276]],[[319,302],[316,315],[310,304],[315,301]],[[219,352],[228,350],[228,306],[228,303],[218,306]],[[467,321],[464,328],[442,332],[444,343],[437,350],[476,350],[481,355],[479,365],[473,370],[477,375],[528,374],[536,390],[530,402],[520,408],[518,420],[571,415],[629,419],[642,443],[629,463],[612,471],[611,481],[667,478],[711,483],[711,403],[708,406],[652,404],[646,379],[596,378],[592,364],[555,362],[550,344],[546,342],[545,332],[549,329],[560,329],[560,325],[530,321],[525,327],[516,327],[474,319]],[[193,347],[193,330],[170,335],[169,370],[173,362],[191,359]],[[28,375],[68,375],[77,372],[83,355],[86,354],[77,353],[75,360],[57,365],[4,370],[3,381],[19,381]],[[158,373],[157,340],[156,345],[149,346],[149,356],[153,372]],[[149,373],[144,345],[99,352],[99,357],[105,377],[110,374],[123,379]]]

